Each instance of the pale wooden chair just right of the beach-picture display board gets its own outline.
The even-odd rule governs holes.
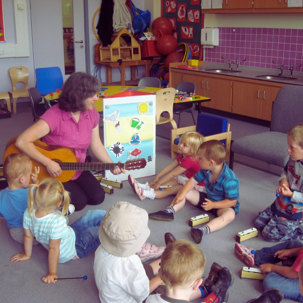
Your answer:
[[[177,128],[177,124],[173,119],[172,108],[176,95],[175,88],[163,88],[156,94],[156,125],[170,122],[172,128]],[[168,113],[167,117],[162,117],[162,113]]]

